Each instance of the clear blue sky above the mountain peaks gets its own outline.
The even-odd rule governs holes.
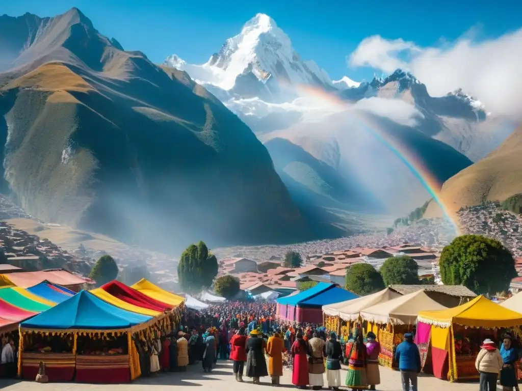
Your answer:
[[[176,53],[201,64],[257,13],[276,20],[303,59],[314,59],[334,79],[370,79],[374,70],[350,68],[346,56],[366,36],[402,38],[420,46],[453,41],[473,28],[480,39],[521,27],[519,0],[1,0],[0,12],[54,16],[78,7],[102,34],[154,62]]]

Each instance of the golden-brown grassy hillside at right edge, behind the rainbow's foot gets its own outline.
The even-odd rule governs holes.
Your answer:
[[[522,127],[487,157],[444,182],[441,199],[458,211],[485,201],[504,201],[517,193],[522,193]],[[430,202],[424,216],[440,214],[440,208]]]

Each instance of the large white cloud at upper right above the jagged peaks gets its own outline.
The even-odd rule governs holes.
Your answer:
[[[522,29],[482,42],[474,42],[468,34],[442,47],[420,47],[375,35],[361,41],[349,64],[387,73],[408,70],[432,96],[462,88],[493,115],[522,117]]]

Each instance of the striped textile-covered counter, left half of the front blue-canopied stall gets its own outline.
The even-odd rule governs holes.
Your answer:
[[[34,380],[40,368],[45,364],[45,374],[50,382],[70,382],[74,377],[76,365],[73,353],[22,353],[22,378]]]

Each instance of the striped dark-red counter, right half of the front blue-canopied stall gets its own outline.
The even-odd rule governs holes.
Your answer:
[[[84,383],[128,383],[128,355],[76,356],[76,381]]]

